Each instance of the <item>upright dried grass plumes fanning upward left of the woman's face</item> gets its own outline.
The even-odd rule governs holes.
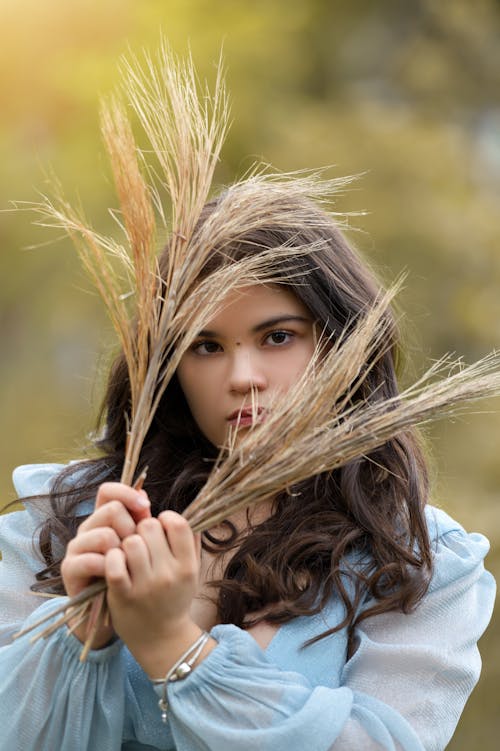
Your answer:
[[[166,44],[159,63],[146,58],[124,63],[125,91],[160,163],[160,186],[148,181],[151,169],[137,147],[118,98],[102,108],[101,122],[126,243],[95,232],[62,196],[35,205],[41,224],[65,229],[106,304],[123,349],[131,387],[130,436],[122,481],[131,484],[140,447],[154,414],[151,400],[167,385],[166,357],[179,329],[172,323],[186,301],[213,243],[191,242],[207,201],[228,126],[227,97],[219,64],[215,92],[199,82],[192,60],[176,61]],[[168,268],[162,282],[156,261],[155,210],[163,224],[159,189],[168,191],[172,209]],[[219,233],[220,234],[220,233]]]

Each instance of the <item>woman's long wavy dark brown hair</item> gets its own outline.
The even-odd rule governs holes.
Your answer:
[[[262,186],[266,190],[266,186]],[[245,183],[206,204],[197,231],[221,210],[245,201]],[[276,278],[308,308],[328,337],[349,331],[380,294],[380,285],[349,244],[338,223],[321,206],[289,187],[269,190],[268,222],[243,228],[221,240],[202,276],[224,260],[282,246],[314,247],[300,259],[281,259]],[[284,216],[287,217],[284,221]],[[165,251],[165,254],[168,249]],[[164,255],[163,258],[166,256]],[[160,269],[162,259],[160,259]],[[356,400],[397,397],[399,335],[392,312],[386,340],[380,343]],[[78,505],[95,495],[105,480],[118,480],[126,441],[130,383],[123,355],[112,365],[99,417],[97,459],[71,464],[56,478],[48,502],[52,516],[40,531],[46,568],[34,588],[64,592],[59,565],[68,541],[84,518]],[[141,464],[148,466],[145,489],[152,513],[182,513],[203,486],[218,454],[194,422],[174,376],[144,442]],[[313,477],[279,494],[270,516],[238,533],[203,536],[205,548],[231,550],[222,578],[214,581],[218,620],[247,628],[259,620],[284,623],[311,615],[338,596],[345,618],[316,638],[391,610],[411,611],[431,574],[431,552],[424,517],[428,472],[419,435],[406,431],[369,456],[360,456],[331,473]],[[361,608],[362,603],[366,605]],[[258,615],[256,615],[258,613]]]

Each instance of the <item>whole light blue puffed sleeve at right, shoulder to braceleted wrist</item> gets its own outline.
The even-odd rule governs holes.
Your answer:
[[[249,634],[216,627],[218,646],[168,688],[178,751],[444,749],[479,676],[495,585],[481,535],[442,517],[433,546],[424,600],[362,622],[337,687],[280,670]]]

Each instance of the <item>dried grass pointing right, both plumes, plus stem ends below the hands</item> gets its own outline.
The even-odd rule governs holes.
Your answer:
[[[360,361],[363,360],[362,353],[366,354],[369,347],[369,330],[370,327],[363,332],[365,340],[358,352]],[[371,331],[375,335],[376,329],[372,328]],[[500,393],[499,355],[491,355],[429,385],[429,378],[452,365],[457,367],[457,363],[444,359],[400,397],[373,405],[345,408],[340,414],[332,414],[328,411],[326,397],[321,401],[321,394],[328,391],[335,358],[337,368],[349,366],[347,354],[353,356],[355,350],[351,342],[353,337],[356,338],[356,335],[352,334],[345,342],[345,351],[342,347],[340,350],[336,348],[329,353],[329,360],[316,363],[315,377],[306,379],[292,392],[292,406],[288,400],[276,405],[270,420],[256,425],[228,456],[221,459],[197,499],[186,509],[185,516],[193,531],[209,529],[239,509],[272,498],[301,480],[331,471],[367,454],[412,425],[444,414],[455,414],[465,402]],[[349,343],[351,348],[347,346]],[[352,372],[350,377],[351,383],[357,382]],[[347,379],[346,374],[344,378]],[[339,383],[345,385],[342,378]],[[312,395],[320,401],[319,410],[314,410],[315,419],[318,414],[326,415],[323,422],[318,422],[315,427],[311,425],[308,411]],[[286,439],[286,425],[292,419],[306,428],[302,439]],[[52,613],[49,617],[71,608],[70,615],[57,621],[57,625],[53,624],[49,633],[75,617],[75,607],[80,605],[83,609],[85,601],[92,599],[96,591],[102,591],[105,583],[101,583],[100,587],[102,589],[96,589],[96,585],[92,585]],[[37,625],[33,624],[31,628]]]

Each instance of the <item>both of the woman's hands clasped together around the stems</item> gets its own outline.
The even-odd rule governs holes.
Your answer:
[[[144,491],[104,483],[96,508],[69,543],[61,572],[70,596],[96,577],[108,584],[112,626],[102,626],[92,647],[107,644],[116,632],[143,669],[164,675],[200,628],[189,616],[199,587],[200,539],[173,511],[151,517]],[[75,630],[85,641],[85,624]],[[213,649],[210,640],[201,657]]]

